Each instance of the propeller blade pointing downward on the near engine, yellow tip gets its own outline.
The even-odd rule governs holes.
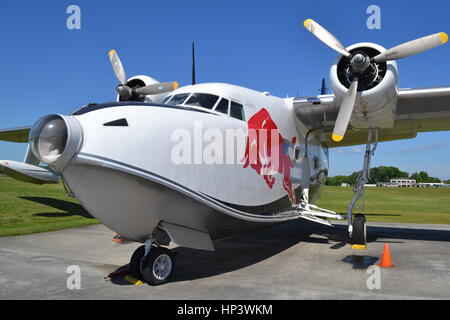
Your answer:
[[[344,101],[342,102],[338,117],[336,119],[336,123],[334,124],[333,135],[331,138],[335,142],[340,142],[342,141],[342,139],[344,139],[348,123],[350,122],[350,117],[352,116],[353,108],[355,107],[357,93],[358,77],[355,77],[350,88],[347,91],[347,95],[345,96]]]

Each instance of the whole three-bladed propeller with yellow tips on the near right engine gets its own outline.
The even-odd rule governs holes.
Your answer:
[[[332,139],[335,142],[340,142],[344,139],[345,132],[347,131],[347,127],[350,123],[350,118],[355,107],[356,97],[358,94],[359,77],[367,70],[367,68],[369,68],[371,64],[406,58],[438,47],[448,41],[448,35],[444,32],[440,32],[427,37],[405,42],[393,47],[392,49],[386,50],[373,58],[370,58],[362,52],[355,52],[353,54],[348,52],[335,36],[312,19],[305,20],[303,25],[320,41],[350,59],[353,80],[344,100],[342,101],[341,107],[339,108],[338,117],[334,125]]]

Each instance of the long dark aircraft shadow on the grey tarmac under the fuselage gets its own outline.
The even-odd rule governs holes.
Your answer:
[[[316,235],[323,236],[317,238]],[[385,240],[386,239],[386,240]],[[389,240],[388,240],[389,239]],[[368,242],[396,242],[395,240],[450,241],[450,231],[402,229],[368,226]],[[308,221],[291,221],[250,234],[216,241],[215,252],[176,248],[176,270],[171,282],[208,278],[239,270],[283,252],[297,243],[321,243],[336,250],[348,244],[347,225],[333,228]],[[123,270],[128,266],[122,266]],[[127,285],[121,279],[117,285]]]

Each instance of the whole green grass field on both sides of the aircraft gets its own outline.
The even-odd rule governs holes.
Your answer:
[[[345,214],[352,195],[351,188],[326,186],[318,205]],[[369,222],[450,224],[450,188],[370,188],[364,214]],[[96,223],[61,184],[38,186],[0,176],[0,237]]]

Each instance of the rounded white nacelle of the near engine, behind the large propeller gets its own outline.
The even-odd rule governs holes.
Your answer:
[[[350,53],[362,51],[370,58],[386,51],[374,43],[357,43]],[[352,83],[350,59],[339,56],[330,70],[331,88],[341,104]],[[350,123],[353,128],[392,128],[398,92],[398,67],[395,61],[372,63],[359,79],[358,95]]]

